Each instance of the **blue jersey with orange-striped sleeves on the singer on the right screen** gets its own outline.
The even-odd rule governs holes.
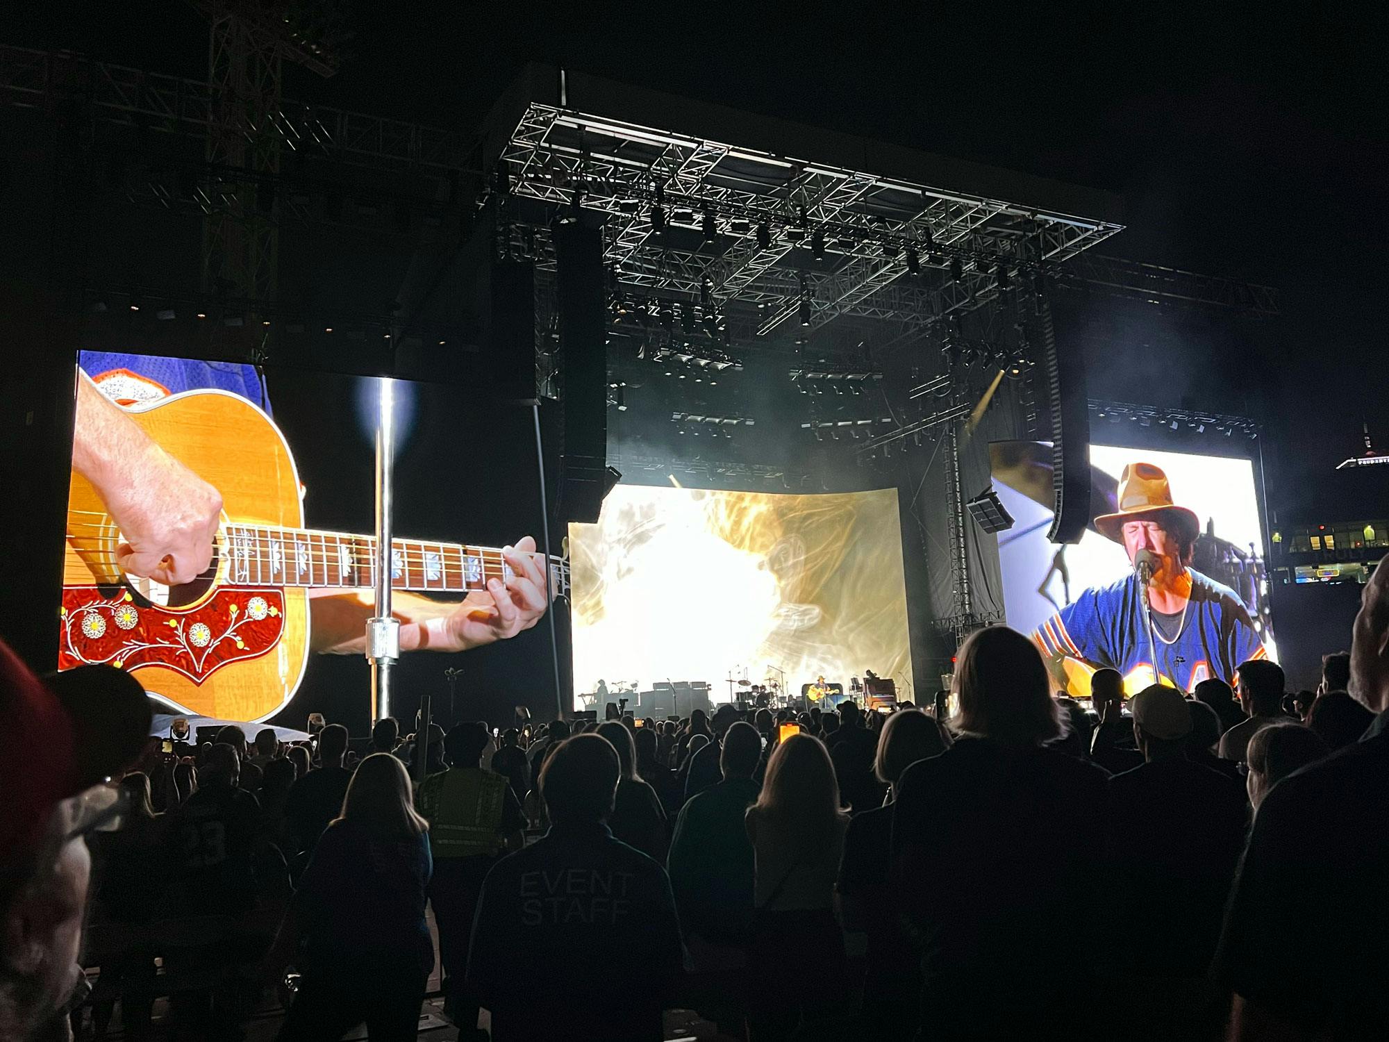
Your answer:
[[[1131,574],[1113,585],[1085,590],[1036,628],[1032,639],[1053,675],[1067,677],[1063,664],[1071,659],[1093,668],[1118,670],[1131,692],[1151,684],[1154,674],[1188,692],[1211,677],[1233,684],[1240,663],[1264,657],[1264,643],[1235,590],[1199,571],[1188,568],[1188,572],[1192,595],[1185,613],[1179,618],[1164,617],[1156,627],[1157,670],[1145,632],[1139,581]],[[1089,695],[1088,686],[1068,686],[1072,693]]]

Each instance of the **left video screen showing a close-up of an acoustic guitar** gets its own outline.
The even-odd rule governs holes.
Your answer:
[[[75,377],[58,668],[118,665],[168,713],[204,720],[268,720],[306,688],[317,702],[278,722],[301,727],[313,709],[365,727],[383,390],[401,729],[450,664],[417,652],[492,642],[507,629],[499,589],[524,600],[539,585],[532,622],[544,604],[524,540],[540,520],[528,410],[483,414],[456,386],[161,356],[81,352]],[[510,545],[526,553],[503,554]],[[519,636],[553,675],[549,640]],[[510,714],[524,702],[510,696],[536,685],[526,663],[497,657],[486,686]],[[481,681],[485,667],[465,661],[465,684]]]

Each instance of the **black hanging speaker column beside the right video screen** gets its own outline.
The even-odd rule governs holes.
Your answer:
[[[1051,499],[1047,539],[1078,543],[1090,524],[1090,403],[1079,345],[1058,345],[1051,306],[1040,299],[1042,365],[1051,415]]]

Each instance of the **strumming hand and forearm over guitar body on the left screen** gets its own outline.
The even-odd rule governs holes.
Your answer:
[[[72,470],[92,482],[121,529],[115,563],[122,571],[176,586],[211,563],[222,496],[85,375],[78,377]]]

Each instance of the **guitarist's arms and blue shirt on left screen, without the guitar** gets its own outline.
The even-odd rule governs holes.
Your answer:
[[[182,390],[215,388],[249,399],[267,413],[269,402],[253,365],[82,352],[78,374],[72,468],[101,496],[124,542],[117,563],[131,575],[167,586],[192,581],[213,559],[221,524],[217,489],[156,445],[121,408]],[[461,602],[436,602],[396,590],[401,650],[464,652],[504,640],[533,627],[547,607],[544,572],[535,539],[503,550],[515,575],[493,579]],[[364,652],[372,592],[313,589],[310,646],[315,652]]]

